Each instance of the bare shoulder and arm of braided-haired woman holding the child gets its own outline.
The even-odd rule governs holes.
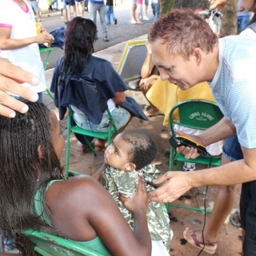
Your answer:
[[[134,231],[106,189],[87,175],[55,182],[47,191],[46,203],[55,226],[67,238],[90,241],[98,236],[114,256],[151,255],[147,194],[142,181],[137,194],[123,201],[133,212]]]

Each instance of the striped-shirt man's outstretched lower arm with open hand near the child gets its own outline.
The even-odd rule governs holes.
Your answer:
[[[192,187],[230,186],[256,179],[256,149],[242,147],[244,159],[194,172],[169,171],[156,184],[166,183],[149,193],[150,201],[172,202]]]

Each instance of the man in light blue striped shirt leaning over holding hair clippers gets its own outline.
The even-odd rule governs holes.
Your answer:
[[[210,26],[190,10],[173,10],[158,20],[149,33],[155,66],[163,80],[182,90],[210,82],[224,118],[193,138],[204,146],[237,134],[241,160],[196,172],[168,172],[150,192],[151,201],[172,202],[192,187],[242,184],[241,220],[246,231],[245,255],[255,251],[256,239],[256,40],[242,36],[218,39]],[[179,135],[185,135],[178,132]],[[231,154],[232,145],[226,150]],[[238,151],[238,150],[237,150]],[[194,148],[181,146],[186,158],[198,157]],[[235,158],[235,157],[234,157]]]

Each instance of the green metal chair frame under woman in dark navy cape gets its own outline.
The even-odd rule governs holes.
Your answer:
[[[91,144],[91,142],[86,138],[86,136],[93,137],[93,138],[100,138],[107,141],[107,145],[111,144],[111,139],[114,136],[114,134],[118,134],[118,128],[115,125],[114,118],[110,112],[110,110],[106,109],[107,114],[109,115],[109,127],[107,132],[95,132],[91,130],[85,130],[82,129],[79,126],[71,126],[71,120],[73,118],[73,110],[69,107],[69,115],[67,118],[67,134],[66,134],[66,178],[69,177],[69,174],[75,174],[79,175],[78,172],[74,170],[70,170],[70,134],[82,134],[84,135],[84,138],[86,140],[87,145],[90,147],[91,152],[96,156],[96,152],[94,150],[94,146]]]

